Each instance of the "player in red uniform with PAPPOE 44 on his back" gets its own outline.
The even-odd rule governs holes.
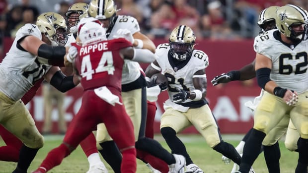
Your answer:
[[[121,99],[122,68],[124,59],[149,63],[154,60],[154,54],[149,50],[134,49],[132,43],[123,38],[107,41],[100,22],[89,20],[92,19],[83,18],[81,21],[84,22],[78,24],[78,38],[82,45],[72,43],[67,58],[70,62],[74,60],[76,73],[81,77],[84,90],[81,108],[74,116],[63,143],[49,152],[34,173],[46,173],[59,165],[101,122],[123,155],[121,173],[136,172],[133,124]]]

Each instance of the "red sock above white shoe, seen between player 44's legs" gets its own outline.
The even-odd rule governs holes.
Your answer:
[[[90,133],[85,139],[83,139],[80,142],[80,147],[82,148],[86,157],[89,157],[93,153],[98,153],[94,134]]]

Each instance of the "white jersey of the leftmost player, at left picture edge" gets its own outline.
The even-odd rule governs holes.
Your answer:
[[[0,63],[0,91],[14,101],[21,99],[51,67],[41,64],[37,56],[17,48],[17,42],[29,35],[42,39],[38,26],[25,24],[17,31],[10,50]]]

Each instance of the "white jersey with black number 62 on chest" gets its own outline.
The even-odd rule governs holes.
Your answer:
[[[255,37],[254,51],[272,60],[270,79],[279,87],[303,93],[308,90],[308,40],[289,47],[278,34],[270,30]]]

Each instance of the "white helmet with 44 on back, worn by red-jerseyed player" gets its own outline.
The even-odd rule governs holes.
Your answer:
[[[103,28],[102,24],[95,21],[86,22],[83,25],[80,25],[78,27],[78,37],[82,46],[107,40],[105,28]]]

